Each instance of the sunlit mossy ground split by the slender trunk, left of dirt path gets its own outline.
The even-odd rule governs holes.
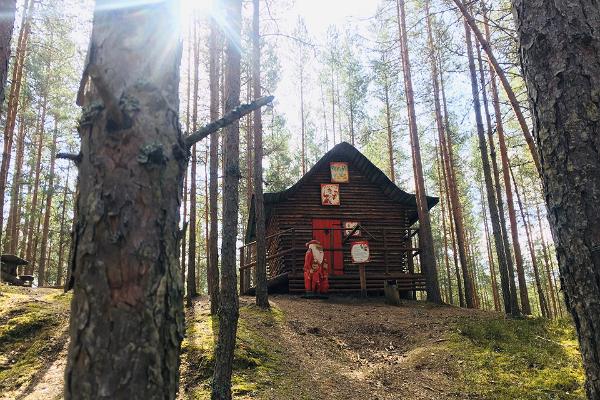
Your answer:
[[[235,398],[253,397],[274,383],[279,375],[283,349],[269,340],[264,330],[277,330],[282,323],[283,313],[276,307],[270,310],[252,305],[240,308],[232,377]],[[193,319],[188,317],[186,333],[182,344],[182,383],[186,395],[190,399],[209,399],[217,317],[211,317],[207,311],[193,315]]]

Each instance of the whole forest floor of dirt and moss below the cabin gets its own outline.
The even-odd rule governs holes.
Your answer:
[[[60,399],[68,295],[0,286],[0,399]],[[568,321],[382,299],[240,299],[236,399],[584,399]],[[218,330],[187,309],[180,399],[208,399]]]

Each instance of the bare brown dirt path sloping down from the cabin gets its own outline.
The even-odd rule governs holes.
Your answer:
[[[282,383],[295,386],[287,392],[275,388],[264,398],[461,398],[438,344],[450,333],[450,322],[473,311],[414,302],[392,307],[380,299],[278,296],[272,303],[286,315],[282,331],[271,334],[286,349],[289,379]]]

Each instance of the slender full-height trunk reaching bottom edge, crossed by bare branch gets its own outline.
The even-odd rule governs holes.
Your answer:
[[[226,38],[225,112],[240,102],[241,0],[224,0],[225,21],[229,21]],[[239,316],[236,274],[236,237],[239,209],[239,123],[225,129],[225,182],[223,186],[223,240],[221,244],[221,293],[219,336],[215,350],[212,399],[231,399],[233,351]]]

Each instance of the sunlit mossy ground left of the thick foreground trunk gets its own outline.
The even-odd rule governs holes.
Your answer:
[[[70,296],[34,290],[0,289],[0,393],[29,385],[66,340]]]

